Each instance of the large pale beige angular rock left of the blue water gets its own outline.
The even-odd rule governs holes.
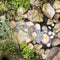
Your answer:
[[[22,43],[24,41],[26,41],[28,43],[28,42],[31,41],[31,37],[28,35],[28,33],[24,32],[22,30],[20,30],[18,32],[18,36],[17,37],[18,37],[19,43]]]

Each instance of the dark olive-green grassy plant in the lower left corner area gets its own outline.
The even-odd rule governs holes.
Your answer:
[[[16,54],[16,45],[12,40],[4,40],[0,41],[0,52],[3,53],[3,55],[14,55]]]

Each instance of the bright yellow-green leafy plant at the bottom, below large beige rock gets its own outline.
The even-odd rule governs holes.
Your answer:
[[[30,47],[25,42],[20,44],[20,48],[23,58],[26,60],[37,60],[37,54],[32,49],[30,49]]]

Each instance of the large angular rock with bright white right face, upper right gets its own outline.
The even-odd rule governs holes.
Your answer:
[[[51,19],[53,18],[55,14],[54,9],[51,7],[49,3],[46,3],[43,5],[42,11],[48,18],[51,18]]]

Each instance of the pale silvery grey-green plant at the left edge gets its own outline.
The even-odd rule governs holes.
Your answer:
[[[12,30],[9,26],[9,20],[5,16],[0,16],[0,36],[10,37],[12,36]]]

